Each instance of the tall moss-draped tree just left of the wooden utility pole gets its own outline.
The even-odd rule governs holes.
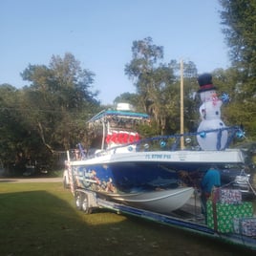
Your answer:
[[[166,120],[170,109],[166,104],[174,101],[170,85],[175,81],[170,64],[162,64],[163,48],[153,44],[151,37],[134,41],[133,59],[125,66],[125,74],[134,80],[139,95],[139,108],[150,114],[157,123],[158,131],[166,132]]]

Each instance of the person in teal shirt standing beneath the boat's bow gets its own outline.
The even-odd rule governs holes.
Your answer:
[[[201,181],[202,213],[206,215],[206,202],[214,187],[221,186],[221,175],[216,167],[210,167]]]

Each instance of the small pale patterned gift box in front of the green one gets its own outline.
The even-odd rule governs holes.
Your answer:
[[[256,218],[235,218],[234,231],[245,236],[256,237]]]

